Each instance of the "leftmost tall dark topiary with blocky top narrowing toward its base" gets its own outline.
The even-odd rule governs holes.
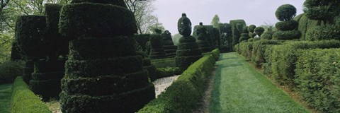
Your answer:
[[[16,42],[26,55],[26,67],[23,71],[23,81],[30,83],[34,62],[42,59],[45,53],[46,20],[45,16],[19,16],[16,20]]]

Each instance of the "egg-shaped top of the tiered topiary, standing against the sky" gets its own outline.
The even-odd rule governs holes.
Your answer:
[[[191,21],[186,17],[186,13],[182,13],[182,17],[179,18],[177,23],[177,28],[179,30],[179,34],[183,35],[183,37],[191,35]]]

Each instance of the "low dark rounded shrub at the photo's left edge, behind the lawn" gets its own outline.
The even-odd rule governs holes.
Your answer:
[[[25,61],[6,61],[0,64],[0,84],[13,83],[23,73]]]

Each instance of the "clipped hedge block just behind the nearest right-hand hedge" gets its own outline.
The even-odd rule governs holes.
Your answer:
[[[339,40],[322,40],[322,41],[291,41],[285,42],[282,45],[273,47],[273,54],[271,59],[271,66],[273,71],[273,78],[278,83],[287,85],[295,85],[295,65],[297,58],[304,52],[305,49],[327,49],[339,48]]]

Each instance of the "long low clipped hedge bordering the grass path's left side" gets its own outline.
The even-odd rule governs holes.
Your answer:
[[[206,81],[214,65],[215,59],[211,55],[200,58],[189,66],[164,93],[149,102],[139,112],[192,112],[203,97]]]

